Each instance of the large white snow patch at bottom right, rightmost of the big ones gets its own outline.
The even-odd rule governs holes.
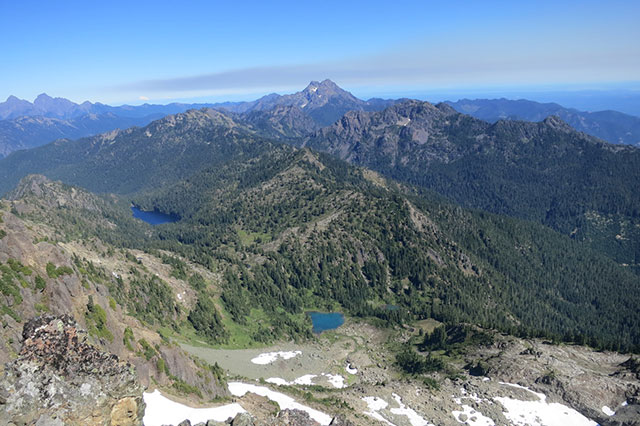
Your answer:
[[[495,397],[507,410],[504,416],[518,426],[597,426],[590,420],[566,405],[547,402],[547,396],[524,386],[500,382],[501,385],[527,390],[538,397],[538,401],[520,401],[506,397]]]

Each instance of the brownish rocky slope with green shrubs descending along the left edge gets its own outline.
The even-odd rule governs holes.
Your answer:
[[[100,230],[117,235],[122,226],[130,226],[124,233],[146,231],[136,231],[135,222],[109,210],[104,199],[43,177],[25,181],[13,195],[11,202],[0,202],[0,362],[20,353],[25,321],[41,313],[69,314],[97,347],[135,365],[141,385],[173,387],[206,400],[228,395],[219,372],[158,334],[157,319],[132,314],[135,304],[148,304],[137,287],[145,285],[171,295],[170,311],[162,315],[179,322],[195,303],[193,290],[171,277],[158,257],[116,251],[96,237]],[[123,291],[131,297],[122,298]]]

